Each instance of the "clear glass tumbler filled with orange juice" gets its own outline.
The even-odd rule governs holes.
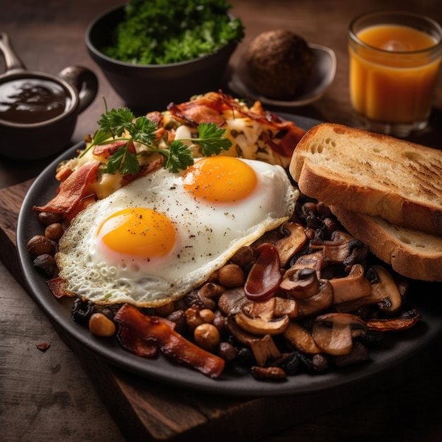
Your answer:
[[[416,13],[378,11],[350,24],[350,99],[365,129],[424,129],[442,59],[442,28]]]

